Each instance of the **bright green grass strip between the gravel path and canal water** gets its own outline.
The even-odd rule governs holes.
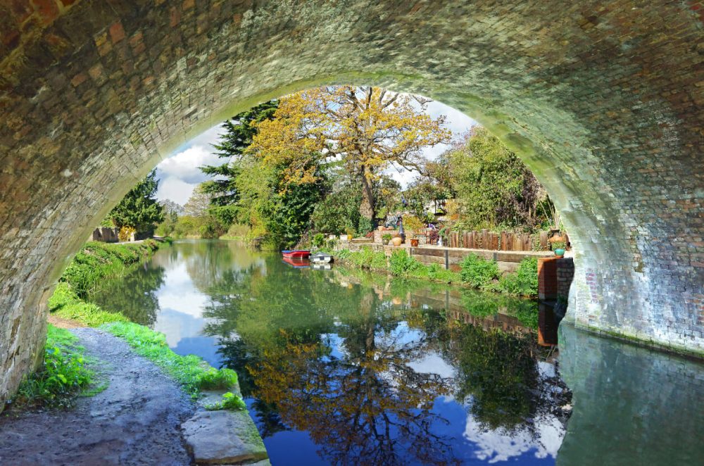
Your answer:
[[[214,369],[196,355],[182,356],[171,351],[164,334],[132,322],[112,322],[101,328],[127,341],[135,353],[161,367],[191,396],[201,390],[230,389],[237,384],[234,370]]]

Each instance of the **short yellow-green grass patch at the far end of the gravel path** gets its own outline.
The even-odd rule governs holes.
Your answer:
[[[108,322],[128,322],[120,313],[108,313],[94,303],[82,301],[66,282],[60,282],[49,298],[49,312],[63,319],[80,322],[87,327],[100,327]]]

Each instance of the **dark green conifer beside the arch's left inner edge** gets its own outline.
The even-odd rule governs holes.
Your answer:
[[[155,224],[164,220],[163,208],[154,197],[158,187],[156,170],[152,170],[108,213],[113,225],[134,227],[138,232],[152,233]]]

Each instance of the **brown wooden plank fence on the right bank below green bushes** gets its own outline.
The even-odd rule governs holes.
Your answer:
[[[565,244],[570,238],[562,232]],[[473,232],[450,232],[448,244],[451,248],[489,249],[491,251],[550,251],[550,232],[539,234],[491,232],[489,229]]]

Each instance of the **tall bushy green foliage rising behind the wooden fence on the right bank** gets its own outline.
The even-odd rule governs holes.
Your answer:
[[[459,229],[541,225],[544,190],[515,153],[482,127],[446,154],[450,179],[460,203]]]

